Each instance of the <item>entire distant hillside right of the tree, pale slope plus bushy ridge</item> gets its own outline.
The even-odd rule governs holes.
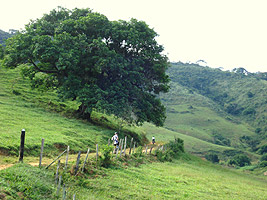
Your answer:
[[[167,107],[165,128],[205,141],[209,143],[207,147],[213,143],[255,152],[266,143],[263,133],[266,121],[261,123],[267,114],[266,81],[183,63],[173,64],[168,74],[172,80],[171,89],[161,96]],[[250,93],[253,97],[249,97]],[[234,111],[227,106],[233,104],[242,107],[242,112],[231,113]],[[255,112],[248,114],[252,105]],[[212,148],[198,148],[203,153],[207,149],[213,151]]]

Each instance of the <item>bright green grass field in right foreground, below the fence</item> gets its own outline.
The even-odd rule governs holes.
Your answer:
[[[198,158],[107,170],[79,187],[79,199],[266,199],[266,179]],[[75,189],[74,189],[75,191]]]

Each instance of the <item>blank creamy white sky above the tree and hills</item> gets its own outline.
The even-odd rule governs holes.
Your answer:
[[[0,29],[24,28],[57,6],[143,20],[172,62],[267,72],[266,0],[0,0]]]

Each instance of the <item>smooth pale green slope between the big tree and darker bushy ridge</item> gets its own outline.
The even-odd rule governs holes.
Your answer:
[[[226,113],[217,102],[198,93],[190,85],[187,87],[180,84],[179,77],[182,75],[179,72],[185,71],[190,74],[190,70],[192,70],[194,74],[195,69],[191,69],[190,66],[183,66],[182,69],[179,69],[179,67],[174,65],[170,68],[168,73],[172,80],[171,89],[168,94],[161,96],[167,107],[164,128],[171,130],[172,135],[179,135],[178,137],[183,138],[185,146],[190,152],[205,154],[208,151],[219,151],[223,154],[223,151],[229,147],[231,149],[235,148],[237,151],[252,151],[252,147],[242,141],[241,138],[255,138],[257,136],[255,127],[252,127],[240,117]],[[201,84],[201,82],[197,83]],[[155,129],[153,132],[162,132],[162,129],[158,131]],[[158,137],[169,138],[167,134],[169,133],[164,133],[164,137],[158,134]],[[181,134],[184,136],[181,136]],[[185,136],[192,136],[199,140],[193,140]],[[220,147],[214,144],[218,144]]]

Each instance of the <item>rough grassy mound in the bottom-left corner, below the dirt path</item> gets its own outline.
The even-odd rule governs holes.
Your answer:
[[[53,172],[26,164],[0,171],[0,199],[54,199]]]

